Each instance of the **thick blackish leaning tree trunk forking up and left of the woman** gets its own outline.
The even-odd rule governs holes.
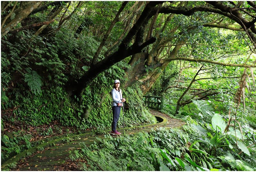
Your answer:
[[[85,74],[78,81],[70,81],[69,83],[67,83],[67,88],[71,89],[69,91],[72,91],[75,95],[80,96],[84,87],[90,81],[92,81],[93,78],[97,77],[97,75],[100,74],[100,72],[108,69],[112,65],[116,64],[117,62],[120,62],[121,60],[123,60],[128,56],[141,52],[142,49],[145,48],[147,45],[154,43],[156,39],[151,38],[141,45],[138,45],[137,42],[134,42],[132,46],[128,47],[133,37],[139,31],[139,29],[147,25],[148,19],[150,17],[149,15],[150,11],[159,3],[161,2],[159,1],[149,2],[145,6],[138,21],[133,25],[133,27],[128,32],[124,40],[119,45],[118,50],[112,53],[111,55],[109,55],[108,57],[105,57],[100,62],[97,62],[96,64],[92,65],[90,69],[86,71]]]

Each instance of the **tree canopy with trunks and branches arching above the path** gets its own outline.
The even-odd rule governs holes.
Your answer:
[[[41,7],[34,10],[39,3],[41,3]],[[92,59],[87,58],[88,64],[84,65],[86,71],[82,71],[81,77],[71,77],[68,78],[66,82],[66,85],[70,85],[73,91],[76,91],[76,94],[80,94],[86,85],[100,74],[100,72],[109,69],[113,64],[126,57],[142,52],[147,54],[147,57],[145,57],[147,60],[146,66],[155,66],[153,68],[162,66],[161,68],[164,69],[172,60],[187,60],[242,67],[254,66],[252,63],[225,64],[224,62],[214,62],[214,58],[203,58],[199,60],[198,57],[186,58],[185,56],[181,57],[177,54],[180,52],[183,45],[196,46],[196,42],[199,43],[201,41],[208,41],[202,42],[205,46],[207,46],[206,43],[218,44],[208,45],[208,47],[211,46],[212,51],[214,51],[213,46],[221,46],[221,44],[222,46],[227,46],[226,43],[228,42],[211,41],[214,36],[218,36],[214,35],[213,32],[218,32],[220,28],[237,31],[233,32],[232,35],[235,36],[236,33],[240,34],[241,36],[239,38],[237,36],[237,39],[244,38],[240,41],[245,41],[243,44],[248,44],[250,49],[254,52],[256,33],[254,5],[253,2],[239,2],[235,4],[232,2],[213,1],[172,3],[160,1],[148,3],[127,1],[124,3],[24,2],[18,5],[17,3],[4,2],[2,4],[3,21],[1,37],[7,38],[6,34],[9,32],[20,33],[23,31],[31,31],[32,29],[36,29],[36,26],[38,30],[34,34],[32,33],[33,36],[38,35],[44,29],[47,29],[47,31],[41,35],[47,35],[49,38],[51,36],[56,37],[55,34],[58,35],[60,32],[74,35],[73,38],[78,38],[81,32],[84,32],[83,36],[96,36],[97,41],[101,43],[96,52],[93,52]],[[34,12],[26,11],[22,12],[22,14],[24,14],[23,16],[18,15],[21,10],[28,8],[32,11],[34,10]],[[111,11],[108,10],[108,8],[111,9]],[[112,15],[113,13],[115,15]],[[15,16],[19,18],[15,18]],[[32,20],[33,24],[22,24],[22,20],[26,21],[29,20],[29,18]],[[52,19],[54,18],[56,19],[53,22]],[[34,23],[36,19],[40,20],[36,21],[37,25]],[[39,28],[38,25],[41,27]],[[71,28],[72,26],[76,27]],[[21,30],[26,28],[29,28],[29,30]],[[67,28],[69,29],[67,30]],[[208,40],[204,40],[206,36]],[[210,36],[212,36],[212,38],[210,38]],[[44,41],[46,42],[47,39]],[[111,45],[111,42],[113,45]],[[102,50],[104,45],[107,49]],[[48,45],[46,44],[45,48],[47,47]],[[73,53],[77,53],[76,50],[73,51]],[[161,54],[162,52],[163,54]],[[167,52],[167,54],[165,52]],[[78,56],[79,59],[84,58],[82,55]],[[133,58],[135,57],[132,57],[130,60],[131,63]],[[40,61],[40,59],[38,60]],[[78,61],[78,63],[79,62],[80,61]],[[159,76],[157,74],[153,76],[155,75],[156,78]],[[143,79],[142,81],[145,82],[145,80],[146,79]],[[148,89],[145,91],[147,90]]]

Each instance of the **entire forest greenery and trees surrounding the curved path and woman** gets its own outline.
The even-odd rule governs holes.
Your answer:
[[[77,153],[90,165],[83,170],[100,170],[97,158],[104,170],[255,169],[247,164],[255,164],[254,7],[246,1],[3,1],[1,160],[34,146],[24,132],[29,127],[48,125],[40,136],[52,135],[52,123],[80,133],[109,130],[109,92],[119,79],[125,127],[156,122],[145,93],[162,96],[162,112],[188,125],[100,140]],[[230,126],[222,134],[224,124],[212,123],[229,119],[243,133],[234,135]]]

